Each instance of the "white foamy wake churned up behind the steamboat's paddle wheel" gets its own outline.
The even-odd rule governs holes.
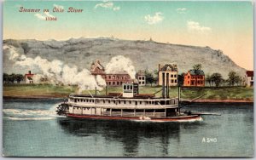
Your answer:
[[[3,118],[10,120],[50,120],[59,117],[55,109],[58,104],[50,107],[49,110],[22,110],[22,109],[3,109]]]

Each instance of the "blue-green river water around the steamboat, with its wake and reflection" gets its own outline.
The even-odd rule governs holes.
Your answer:
[[[252,157],[253,105],[184,108],[218,112],[201,122],[75,120],[60,99],[3,100],[3,154],[12,157]]]

